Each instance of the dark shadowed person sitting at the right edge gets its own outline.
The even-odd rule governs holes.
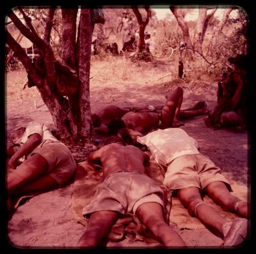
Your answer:
[[[204,119],[209,128],[221,129],[230,127],[233,131],[241,132],[247,124],[247,56],[237,55],[228,58],[234,70],[223,73],[218,83],[218,105]]]

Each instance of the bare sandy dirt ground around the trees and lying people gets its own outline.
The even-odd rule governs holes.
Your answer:
[[[127,68],[130,65],[129,69]],[[108,70],[106,70],[108,69]],[[116,106],[161,105],[165,94],[176,86],[172,82],[173,62],[134,63],[116,60],[109,63],[92,61],[91,67],[91,110],[113,104]],[[108,74],[110,73],[110,74]],[[7,72],[6,77],[6,136],[9,140],[10,131],[18,124],[26,124],[31,120],[53,124],[52,117],[35,88],[22,90],[27,82],[24,69]],[[179,83],[179,84],[178,84]],[[214,108],[217,101],[217,83],[202,81],[202,86],[192,82],[177,81],[184,89],[182,108],[205,100],[208,109]],[[239,184],[248,186],[248,136],[247,131],[233,133],[229,130],[206,128],[203,118],[198,116],[185,120],[181,128],[195,138],[201,149],[223,174]],[[112,142],[115,138],[102,136],[100,145]],[[8,237],[14,246],[24,247],[75,247],[84,232],[84,226],[78,224],[71,210],[73,184],[40,194],[20,206],[8,225]],[[207,228],[197,230],[180,230],[179,232],[188,246],[220,246],[222,238]],[[143,242],[122,242],[109,244],[110,247],[152,247],[159,244]]]

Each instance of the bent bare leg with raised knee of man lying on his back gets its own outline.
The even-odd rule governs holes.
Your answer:
[[[183,100],[183,89],[177,87],[167,97],[167,101],[161,111],[161,123],[162,129],[166,129],[169,126],[178,127],[183,123],[178,122],[178,114]]]

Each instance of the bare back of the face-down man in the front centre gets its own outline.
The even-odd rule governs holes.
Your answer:
[[[140,171],[144,173],[143,163],[146,159],[147,155],[133,145],[123,146],[122,144],[113,143],[93,152],[88,161],[96,162],[100,160],[103,166],[104,180],[108,175],[117,171]]]

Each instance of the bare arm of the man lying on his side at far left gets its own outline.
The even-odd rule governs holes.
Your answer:
[[[18,159],[30,154],[36,148],[36,146],[41,143],[41,140],[41,136],[37,133],[30,135],[24,145],[21,146],[11,157],[9,160],[9,166],[11,168],[16,168]]]

